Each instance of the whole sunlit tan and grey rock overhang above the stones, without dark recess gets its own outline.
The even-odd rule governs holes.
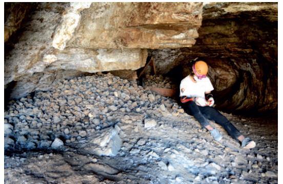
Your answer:
[[[5,88],[17,81],[22,90],[11,97],[18,98],[41,88],[39,81],[47,77],[38,76],[58,70],[68,76],[73,70],[137,70],[145,66],[145,48],[195,44],[202,8],[202,3],[38,3],[18,41],[7,43],[13,49],[5,51]]]

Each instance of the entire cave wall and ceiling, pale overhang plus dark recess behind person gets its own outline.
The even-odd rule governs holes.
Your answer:
[[[14,12],[24,16],[27,9]],[[277,3],[38,3],[33,9],[24,22],[5,14],[6,27],[21,25],[18,34],[5,34],[15,38],[5,42],[12,98],[85,72],[134,79],[149,55],[157,74],[175,70],[174,78],[189,74],[191,60],[206,60],[219,108],[277,108]]]

